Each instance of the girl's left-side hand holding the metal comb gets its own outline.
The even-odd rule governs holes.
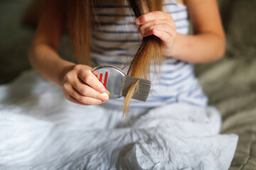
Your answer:
[[[92,74],[92,68],[81,64],[65,74],[63,92],[69,101],[82,105],[98,105],[109,99],[103,84]]]

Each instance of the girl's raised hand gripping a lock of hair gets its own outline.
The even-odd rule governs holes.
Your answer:
[[[176,38],[176,26],[170,13],[153,11],[139,16],[136,20],[139,33],[143,36],[156,35],[162,40],[164,55],[171,55]]]

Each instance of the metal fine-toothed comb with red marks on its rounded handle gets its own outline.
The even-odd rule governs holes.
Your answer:
[[[137,91],[132,96],[138,101],[146,101],[149,96],[151,81],[127,76],[122,69],[113,66],[98,66],[93,74],[104,84],[107,91],[110,91],[110,98],[120,98],[126,96],[129,87],[139,81]],[[102,79],[104,77],[104,79]]]

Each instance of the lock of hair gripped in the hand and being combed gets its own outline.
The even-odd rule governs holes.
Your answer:
[[[127,0],[134,11],[136,17],[149,13],[151,11],[161,11],[162,4],[157,0]],[[128,74],[132,77],[149,79],[149,72],[151,64],[155,66],[160,65],[163,61],[161,50],[161,40],[155,35],[144,37],[142,44],[139,46],[132,63],[129,67]],[[132,85],[127,95],[124,98],[123,113],[127,115],[129,112],[129,101],[132,98],[134,91],[138,88],[138,81],[136,85]]]

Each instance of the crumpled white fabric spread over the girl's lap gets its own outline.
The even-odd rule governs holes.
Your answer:
[[[35,72],[0,86],[0,169],[228,169],[237,135],[215,108],[80,106]]]

